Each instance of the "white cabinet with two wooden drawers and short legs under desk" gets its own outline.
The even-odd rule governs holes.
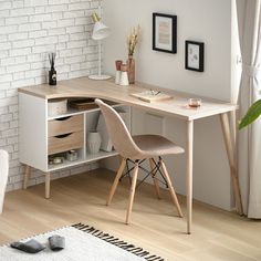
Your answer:
[[[62,97],[61,97],[62,98]],[[66,97],[67,98],[67,97]],[[86,136],[96,128],[100,108],[77,111],[69,108],[63,115],[49,116],[49,100],[19,93],[19,152],[20,161],[25,164],[24,188],[30,178],[30,167],[42,170],[46,175],[45,197],[50,197],[50,173],[66,167],[91,163],[117,155],[115,150],[90,154]],[[128,106],[109,103],[113,107],[126,112],[126,125],[130,127],[130,109]],[[49,164],[49,157],[76,149],[77,159],[64,159],[62,164]]]

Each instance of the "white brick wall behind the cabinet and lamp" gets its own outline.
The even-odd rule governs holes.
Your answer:
[[[23,166],[18,147],[18,87],[46,81],[46,53],[56,52],[58,80],[96,73],[97,46],[91,14],[98,0],[0,0],[0,148],[10,153],[7,190],[20,189]],[[53,173],[65,177],[96,164]],[[34,170],[30,185],[43,182]]]

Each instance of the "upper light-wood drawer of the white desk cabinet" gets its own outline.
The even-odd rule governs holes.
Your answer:
[[[83,114],[49,121],[48,136],[53,137],[83,130]]]

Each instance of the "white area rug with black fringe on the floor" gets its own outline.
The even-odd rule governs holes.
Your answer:
[[[65,249],[53,252],[49,249],[48,238],[53,234],[65,237]],[[46,244],[46,249],[30,254],[10,248],[0,247],[0,260],[4,261],[163,261],[164,259],[148,251],[127,243],[106,232],[83,223],[64,227],[42,233],[33,239]],[[29,239],[20,240],[22,242]]]

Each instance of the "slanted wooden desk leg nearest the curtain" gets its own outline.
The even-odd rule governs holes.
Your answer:
[[[238,179],[238,169],[237,169],[237,164],[236,164],[236,149],[232,142],[232,134],[230,129],[228,113],[220,114],[220,121],[221,121],[223,139],[225,139],[225,145],[226,145],[229,165],[230,165],[230,175],[232,179],[236,207],[237,207],[238,213],[243,215],[243,207],[242,207],[239,179]]]

